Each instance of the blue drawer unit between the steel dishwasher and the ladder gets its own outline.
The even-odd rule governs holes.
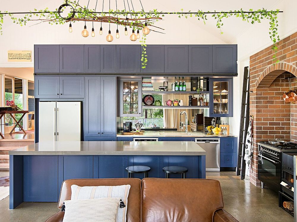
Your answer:
[[[220,167],[232,167],[237,165],[237,137],[220,138]]]

